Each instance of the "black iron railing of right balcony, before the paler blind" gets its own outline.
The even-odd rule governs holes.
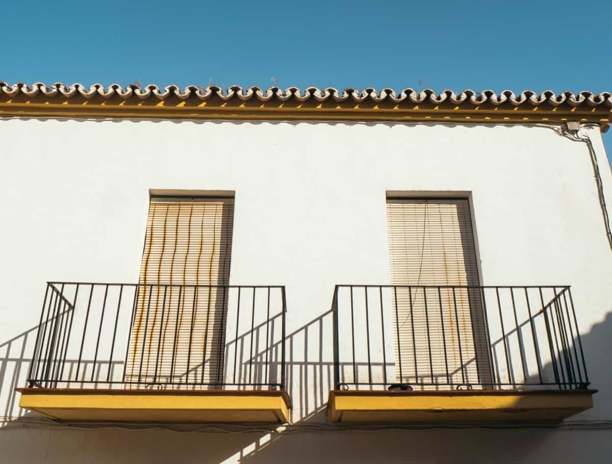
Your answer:
[[[569,286],[337,285],[337,389],[584,389]]]

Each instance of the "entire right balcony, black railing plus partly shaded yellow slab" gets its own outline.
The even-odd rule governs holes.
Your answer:
[[[337,422],[561,421],[592,407],[569,286],[337,285]]]

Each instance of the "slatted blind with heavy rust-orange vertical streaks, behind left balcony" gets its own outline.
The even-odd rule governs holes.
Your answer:
[[[126,382],[220,382],[228,294],[195,285],[228,285],[233,219],[233,199],[151,199]]]

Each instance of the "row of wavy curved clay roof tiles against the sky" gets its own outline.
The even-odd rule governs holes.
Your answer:
[[[520,94],[515,94],[509,90],[502,91],[499,94],[491,90],[485,90],[482,92],[465,90],[460,93],[444,90],[438,94],[431,89],[416,91],[410,88],[403,89],[399,93],[390,88],[384,88],[379,91],[373,88],[367,88],[361,91],[354,88],[348,88],[344,89],[343,91],[338,91],[338,89],[334,88],[319,89],[315,87],[308,87],[302,91],[297,87],[289,87],[283,90],[278,87],[271,87],[269,89],[249,87],[243,89],[240,86],[230,86],[226,89],[222,89],[218,86],[208,86],[206,88],[187,86],[184,89],[181,89],[178,86],[170,85],[162,89],[152,84],[142,88],[136,84],[129,84],[125,87],[122,87],[119,84],[111,84],[105,88],[105,86],[102,84],[93,84],[92,86],[87,87],[79,83],[67,86],[61,82],[58,82],[51,84],[51,86],[47,86],[38,82],[28,86],[23,82],[10,85],[4,81],[0,81],[0,95],[2,94],[9,95],[9,97],[15,97],[19,94],[23,94],[30,98],[36,97],[37,95],[43,95],[45,97],[59,96],[64,97],[65,99],[70,99],[76,95],[83,97],[84,99],[91,99],[93,97],[110,99],[110,97],[116,96],[124,100],[130,98],[140,100],[147,100],[151,98],[165,100],[168,97],[176,97],[181,100],[207,100],[214,95],[224,101],[233,99],[242,101],[257,99],[261,102],[267,102],[274,99],[279,102],[286,102],[288,100],[305,102],[313,99],[316,100],[316,102],[326,102],[327,100],[344,102],[350,99],[356,103],[364,102],[365,100],[370,100],[371,102],[376,103],[387,101],[394,103],[411,102],[415,104],[424,102],[433,104],[449,102],[453,105],[468,103],[471,103],[472,105],[482,105],[483,103],[501,105],[502,103],[510,103],[518,106],[528,103],[533,106],[548,105],[550,107],[557,107],[562,103],[566,103],[567,105],[570,105],[570,107],[577,107],[579,105],[599,107],[600,105],[605,105],[612,108],[611,92],[594,94],[592,92],[582,91],[578,92],[578,94],[574,94],[573,92],[561,92],[559,94],[555,94],[550,90],[543,91],[541,94],[529,90],[521,92]]]

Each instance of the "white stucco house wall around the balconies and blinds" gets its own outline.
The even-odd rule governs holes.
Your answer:
[[[612,205],[599,130],[585,133]],[[37,324],[47,280],[136,282],[149,189],[236,192],[230,283],[286,285],[294,421],[325,421],[334,285],[389,283],[387,190],[471,192],[484,285],[572,285],[589,377],[600,390],[595,408],[576,419],[612,420],[612,250],[583,143],[521,126],[0,120],[0,343]],[[20,347],[16,341],[0,350],[12,360],[4,362],[0,380],[0,406],[10,416],[5,403],[13,378],[6,372]],[[28,443],[32,456],[47,453],[49,462],[83,462],[68,444],[46,448],[70,433],[91,450],[91,462],[108,457],[102,452],[108,442],[128,440],[111,432],[0,428],[0,446],[10,443],[17,456],[23,452],[17,444]],[[147,443],[160,433],[128,435]],[[427,433],[430,450],[439,440],[455,440],[452,432]],[[498,436],[508,447],[520,446],[526,434],[470,433],[482,434],[474,443]],[[542,436],[529,448],[538,450],[534,459],[550,454],[572,462],[559,446],[566,432],[534,433],[529,440]],[[405,438],[388,434],[392,457]],[[360,447],[380,435],[334,434],[333,440],[359,460],[365,459]],[[180,439],[191,443],[182,449],[196,453],[201,438],[189,436]],[[603,433],[572,432],[579,436],[592,442],[581,456],[591,453],[593,462],[612,451]],[[334,445],[320,435],[303,437],[313,446]],[[470,441],[456,441],[469,456]],[[213,461],[238,459],[240,449],[230,447]],[[155,447],[138,449],[142,459],[130,462],[159,458]],[[266,449],[267,460],[288,458],[288,447],[278,454],[273,443]],[[491,446],[452,462],[490,462],[496,451]],[[447,462],[446,455],[431,462]]]

